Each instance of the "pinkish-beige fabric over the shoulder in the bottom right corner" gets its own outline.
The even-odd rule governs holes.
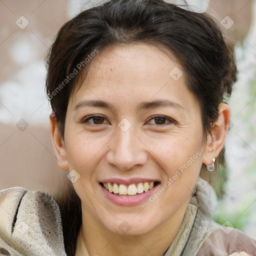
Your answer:
[[[256,256],[256,239],[236,228],[225,227],[211,231],[203,241],[196,256],[230,255],[242,251],[250,256]]]

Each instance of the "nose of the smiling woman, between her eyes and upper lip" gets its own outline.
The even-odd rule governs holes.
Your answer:
[[[133,169],[147,160],[146,146],[135,135],[132,127],[126,131],[118,127],[116,135],[109,142],[109,148],[106,160],[118,169]]]

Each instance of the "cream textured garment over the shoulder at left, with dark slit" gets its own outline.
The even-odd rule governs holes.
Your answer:
[[[1,190],[0,216],[0,248],[11,255],[65,255],[59,208],[49,194]]]

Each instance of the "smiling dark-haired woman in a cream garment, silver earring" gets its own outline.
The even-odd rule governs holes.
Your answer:
[[[71,181],[62,196],[0,194],[4,255],[256,255],[212,218],[236,79],[205,13],[111,0],[58,32],[47,58],[50,133]],[[206,173],[206,174],[205,174]]]

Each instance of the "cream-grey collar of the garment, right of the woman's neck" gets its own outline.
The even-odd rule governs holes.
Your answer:
[[[212,220],[217,202],[213,188],[199,177],[192,194],[179,231],[164,256],[195,256],[210,231],[220,227]]]

